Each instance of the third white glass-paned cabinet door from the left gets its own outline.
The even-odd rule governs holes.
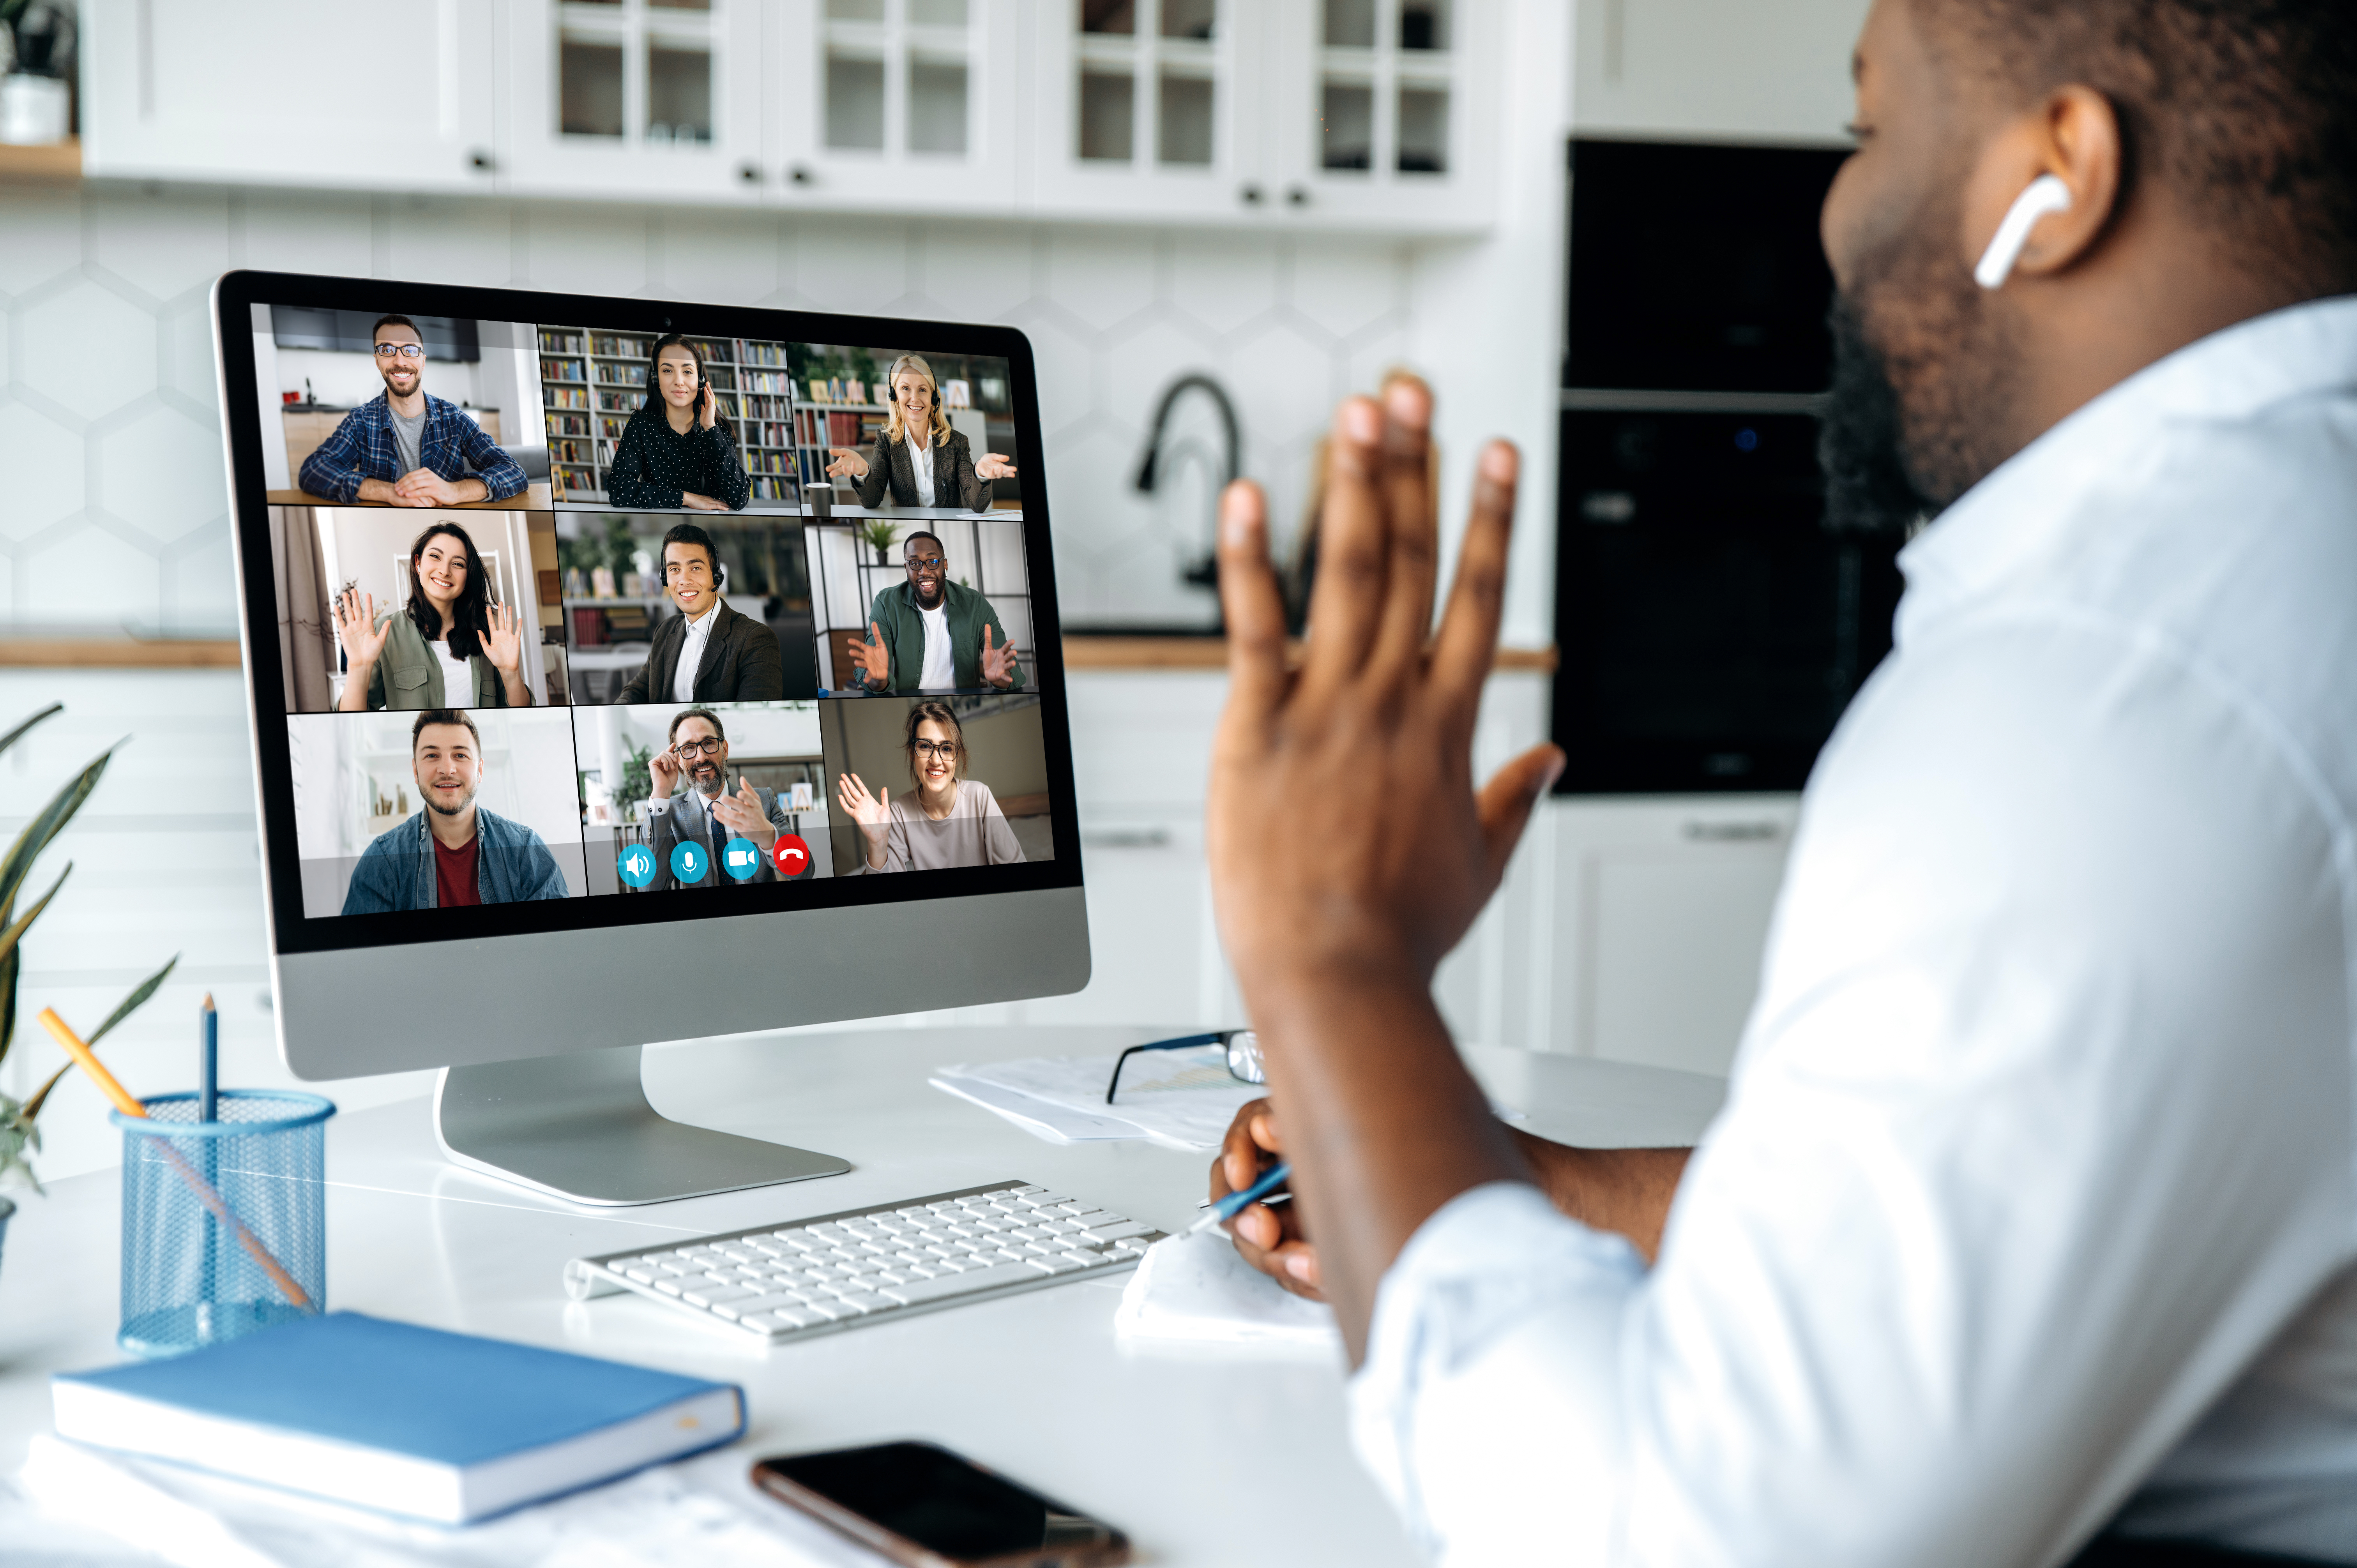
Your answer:
[[[1030,139],[1049,212],[1266,205],[1266,0],[1037,0]]]

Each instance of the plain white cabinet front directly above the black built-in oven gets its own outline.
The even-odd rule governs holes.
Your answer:
[[[1867,5],[1579,0],[1572,130],[1838,146]]]

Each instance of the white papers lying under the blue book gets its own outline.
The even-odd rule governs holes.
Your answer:
[[[42,1514],[174,1568],[874,1568],[882,1561],[761,1497],[745,1478],[742,1448],[643,1469],[457,1530],[130,1460],[52,1434],[33,1438],[16,1488]],[[7,1502],[0,1495],[0,1518]]]

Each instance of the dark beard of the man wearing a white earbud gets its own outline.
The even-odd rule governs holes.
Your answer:
[[[2013,344],[1970,274],[1912,224],[1834,295],[1834,384],[1817,427],[1824,523],[1907,533],[2011,457]]]

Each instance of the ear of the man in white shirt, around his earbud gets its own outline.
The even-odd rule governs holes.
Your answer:
[[[2048,92],[2029,113],[2003,125],[1982,149],[1963,191],[1966,266],[1996,236],[2013,203],[2044,174],[2069,189],[2069,207],[2029,229],[2013,276],[2051,278],[2102,241],[2121,203],[2126,149],[2119,111],[2093,87]]]

